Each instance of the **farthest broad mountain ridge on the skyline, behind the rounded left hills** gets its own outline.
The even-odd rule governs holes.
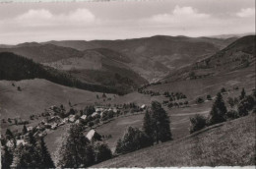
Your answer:
[[[235,39],[155,35],[123,40],[64,40],[44,43],[77,50],[111,49],[127,56],[131,60],[128,66],[151,82],[170,71],[214,54]]]

